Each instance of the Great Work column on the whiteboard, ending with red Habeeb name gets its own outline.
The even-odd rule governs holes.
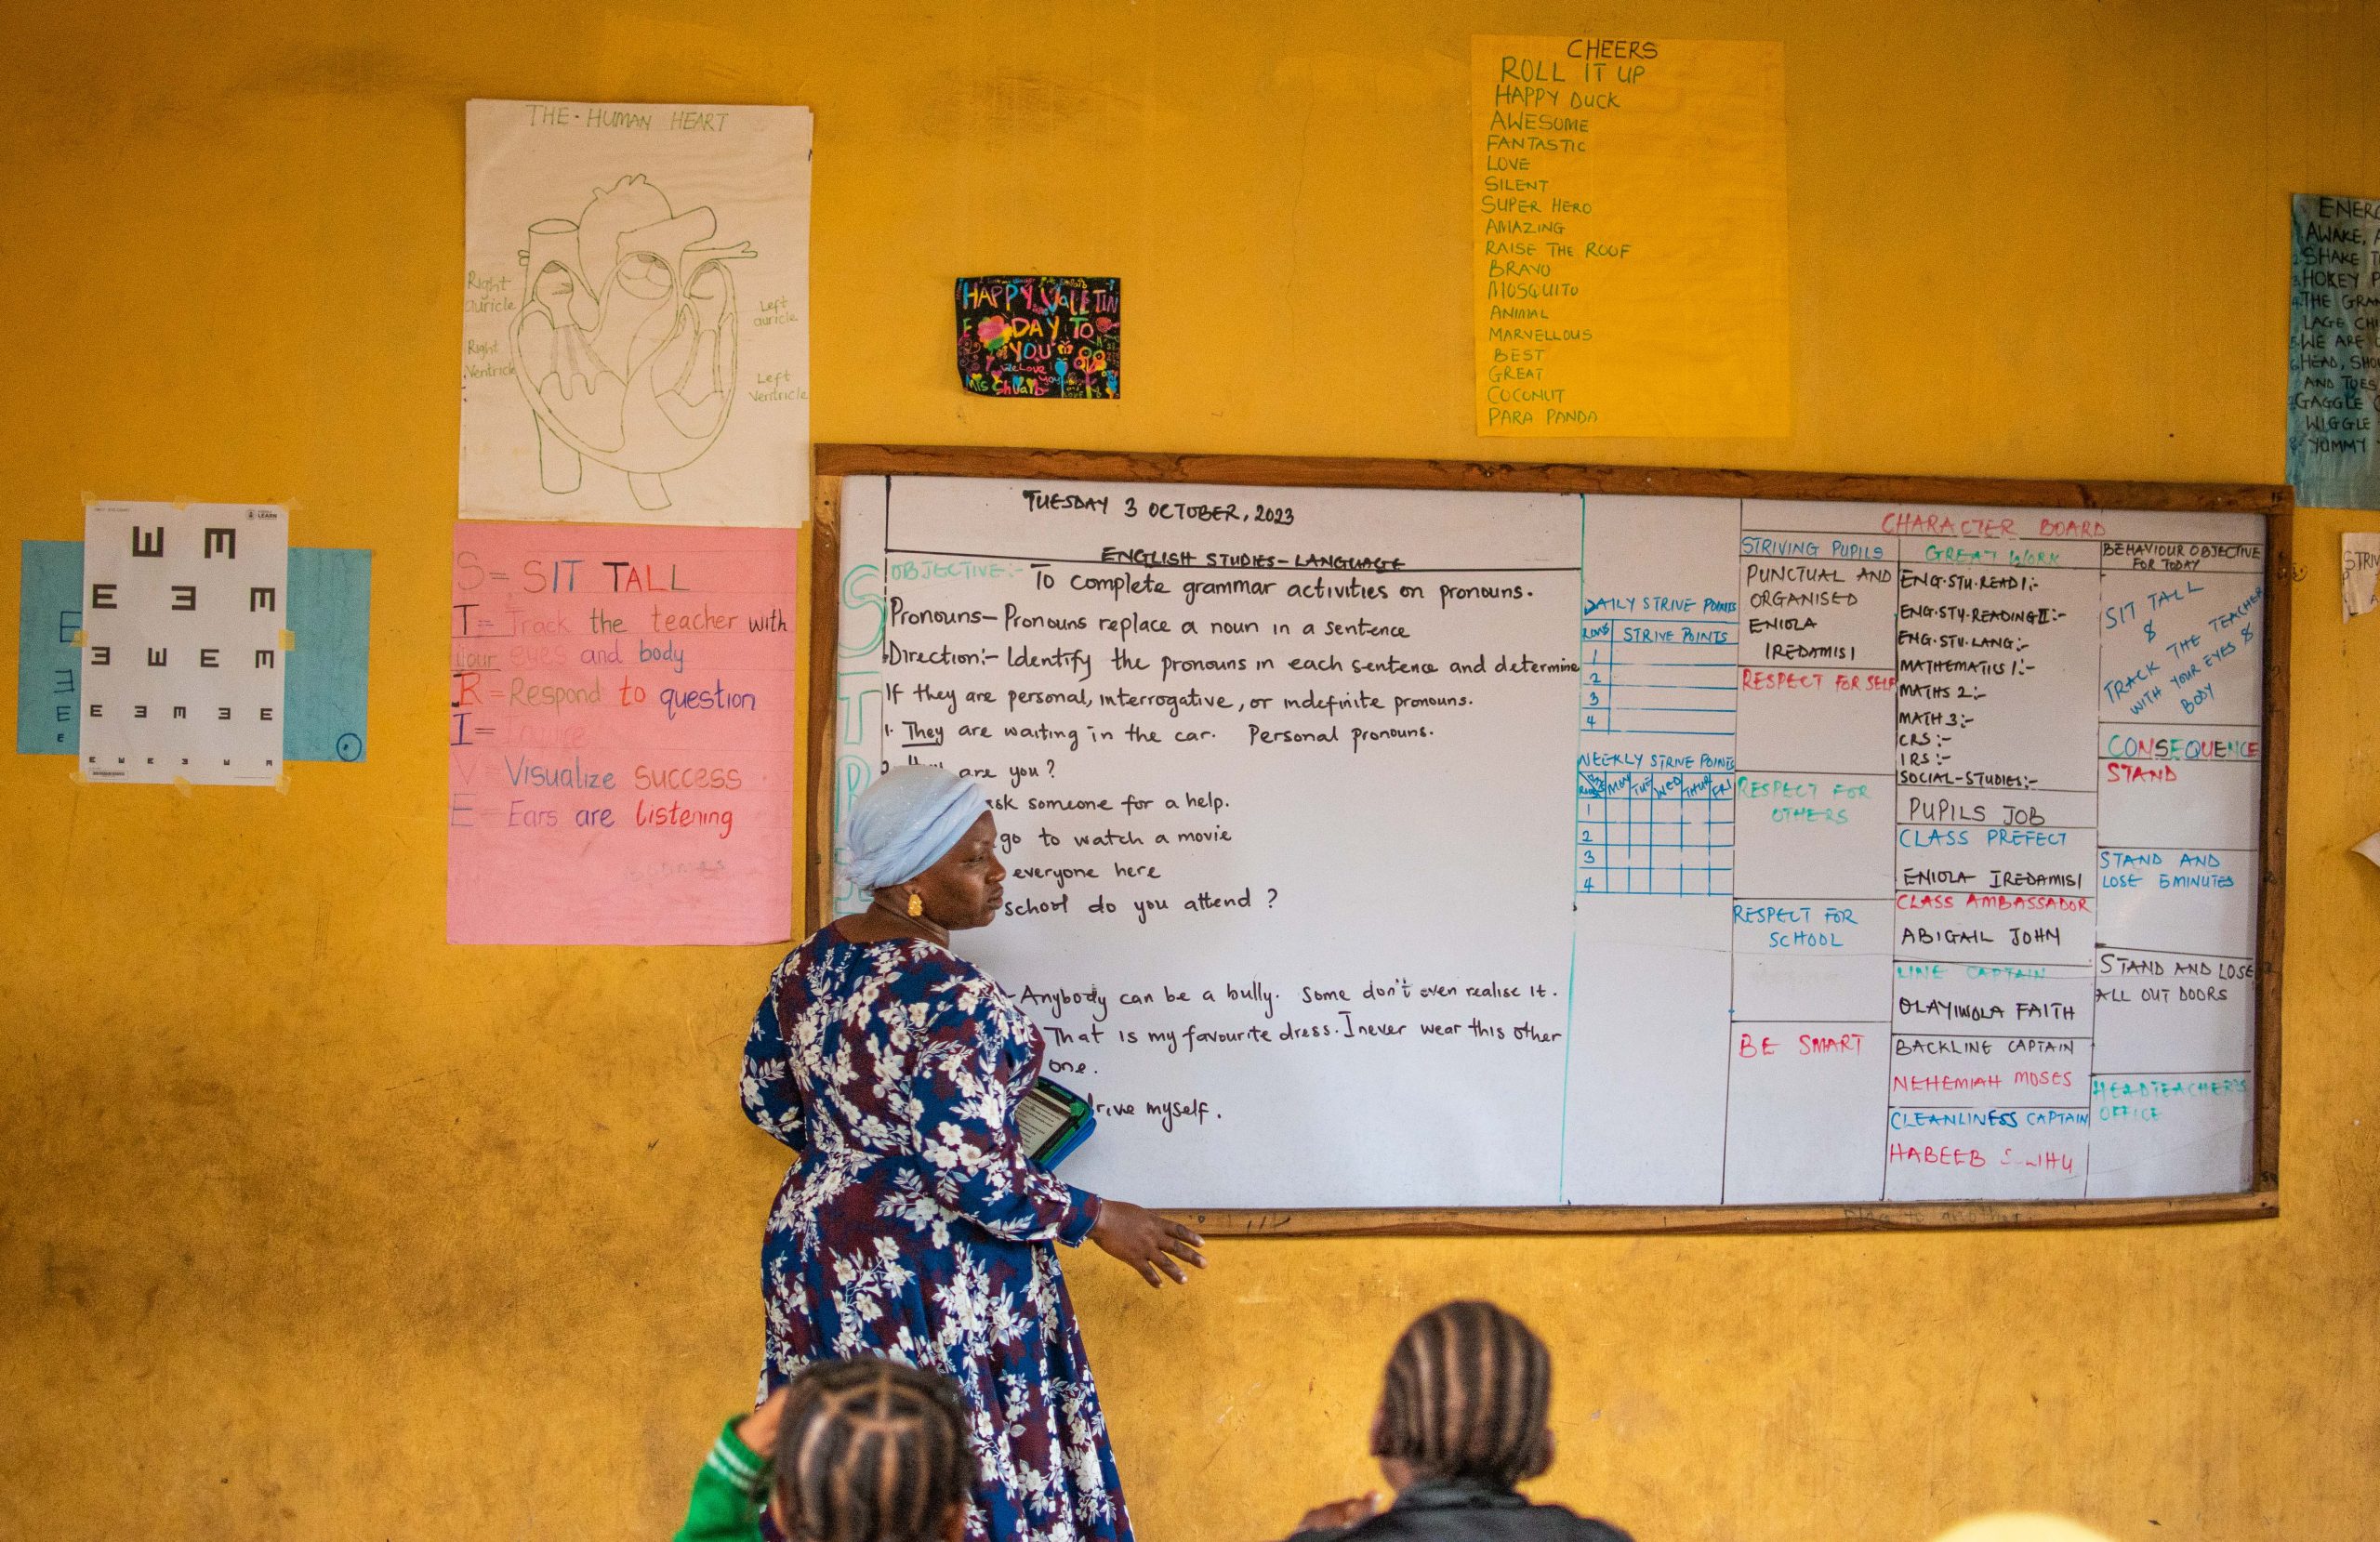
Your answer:
[[[1899,509],[1887,1199],[2080,1197],[2099,543]]]

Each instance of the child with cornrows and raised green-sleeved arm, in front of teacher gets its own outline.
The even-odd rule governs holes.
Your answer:
[[[966,1404],[888,1359],[804,1366],[731,1418],[695,1473],[674,1542],[962,1542],[976,1454]]]

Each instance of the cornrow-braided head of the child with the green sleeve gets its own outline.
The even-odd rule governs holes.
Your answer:
[[[888,1359],[821,1361],[785,1392],[776,1492],[802,1542],[938,1542],[976,1487],[966,1404]]]

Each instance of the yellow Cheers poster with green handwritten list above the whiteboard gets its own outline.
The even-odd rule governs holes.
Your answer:
[[[1785,45],[1471,38],[1488,435],[1773,438]]]

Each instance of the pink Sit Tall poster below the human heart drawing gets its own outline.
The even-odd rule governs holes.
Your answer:
[[[455,526],[447,942],[793,935],[795,540]]]

